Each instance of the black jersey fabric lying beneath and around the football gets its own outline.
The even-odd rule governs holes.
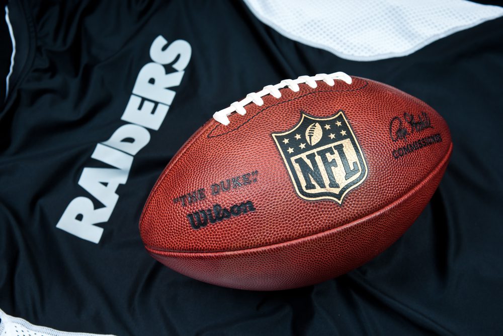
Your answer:
[[[120,335],[503,333],[503,19],[409,56],[356,62],[279,35],[238,2],[23,1],[21,8],[29,56],[0,113],[5,312],[60,330]],[[91,154],[124,124],[159,34],[192,46],[182,84],[117,189],[101,242],[75,238],[55,225],[72,198],[88,196],[77,185],[80,173],[103,166]],[[279,292],[220,288],[154,261],[138,219],[190,135],[266,84],[335,71],[412,94],[450,126],[451,163],[404,236],[345,276]]]

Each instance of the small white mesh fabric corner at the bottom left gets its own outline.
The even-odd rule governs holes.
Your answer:
[[[28,321],[6,314],[0,309],[0,336],[113,336],[95,333],[65,332],[33,325]]]

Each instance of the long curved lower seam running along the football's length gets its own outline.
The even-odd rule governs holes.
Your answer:
[[[450,158],[450,156],[452,154],[452,148],[453,148],[453,144],[451,142],[450,146],[449,146],[449,150],[447,151],[447,154],[444,156],[444,158],[442,159],[442,161],[440,161],[440,163],[437,166],[435,166],[434,169],[432,169],[432,171],[428,174],[428,176],[426,176],[426,178],[423,181],[421,181],[421,183],[416,184],[415,186],[413,186],[409,191],[407,191],[402,196],[400,196],[397,199],[395,199],[392,203],[388,204],[385,208],[380,209],[378,211],[373,212],[372,214],[366,215],[366,216],[364,216],[362,218],[359,218],[359,219],[354,220],[354,221],[352,221],[350,223],[346,223],[346,224],[343,224],[343,225],[335,227],[335,228],[331,228],[331,229],[328,229],[328,230],[325,230],[325,231],[317,232],[317,233],[314,233],[312,235],[295,238],[295,239],[292,239],[292,240],[281,241],[281,242],[277,242],[277,243],[273,243],[273,244],[269,244],[269,245],[247,247],[247,248],[239,248],[239,249],[216,250],[216,251],[183,251],[183,250],[162,249],[162,248],[157,248],[157,247],[153,247],[153,246],[150,246],[150,245],[144,245],[144,246],[145,246],[145,248],[147,250],[152,251],[152,252],[166,252],[166,253],[170,253],[170,254],[185,254],[187,256],[195,256],[197,254],[201,254],[201,255],[204,255],[204,256],[211,256],[213,254],[215,254],[215,255],[236,254],[236,253],[241,253],[243,251],[248,251],[249,252],[249,251],[261,250],[261,249],[273,249],[275,247],[281,247],[282,245],[294,244],[296,242],[299,242],[299,241],[302,241],[302,240],[305,240],[305,239],[311,239],[311,238],[314,238],[316,236],[329,234],[329,233],[331,233],[333,231],[345,230],[349,226],[356,225],[356,224],[358,224],[360,222],[364,222],[364,221],[372,218],[373,216],[377,216],[384,209],[388,209],[388,208],[394,207],[396,204],[400,203],[400,201],[402,201],[403,199],[407,198],[410,194],[414,193],[416,189],[421,188],[427,181],[429,181],[433,177],[434,174],[438,173],[438,171],[440,170],[440,168],[443,165],[447,164],[447,161],[449,160],[449,158]],[[165,255],[165,254],[162,254],[162,255]]]

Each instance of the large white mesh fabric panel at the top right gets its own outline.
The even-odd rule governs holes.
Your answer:
[[[342,58],[408,55],[457,31],[503,15],[464,0],[244,0],[280,34]]]

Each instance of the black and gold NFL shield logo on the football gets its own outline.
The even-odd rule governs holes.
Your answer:
[[[301,111],[297,125],[273,133],[297,194],[307,200],[344,196],[367,177],[367,163],[344,111],[317,118]]]

